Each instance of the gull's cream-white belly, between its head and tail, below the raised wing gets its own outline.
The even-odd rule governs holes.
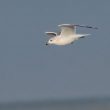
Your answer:
[[[72,38],[72,37],[60,38],[56,44],[57,45],[68,45],[74,42],[75,40],[76,38]]]

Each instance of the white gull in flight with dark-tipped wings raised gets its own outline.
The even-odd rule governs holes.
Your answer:
[[[45,32],[50,39],[46,43],[46,45],[68,45],[73,44],[74,41],[79,40],[80,38],[85,38],[90,34],[77,34],[76,27],[85,27],[91,29],[98,29],[97,27],[85,26],[85,25],[75,25],[75,24],[61,24],[58,25],[60,27],[60,32]]]

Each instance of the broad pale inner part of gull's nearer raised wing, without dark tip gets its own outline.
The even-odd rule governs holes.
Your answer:
[[[76,34],[76,26],[72,24],[61,24],[58,26],[61,28],[61,36],[69,36]]]

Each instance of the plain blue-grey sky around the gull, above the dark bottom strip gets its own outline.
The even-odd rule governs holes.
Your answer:
[[[1,0],[0,102],[110,96],[109,0]],[[45,46],[45,31],[87,24],[90,37]]]

